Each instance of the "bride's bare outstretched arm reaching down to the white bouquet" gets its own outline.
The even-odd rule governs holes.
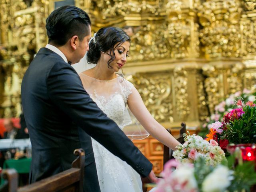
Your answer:
[[[175,147],[180,143],[151,116],[135,87],[132,88],[132,93],[128,97],[127,104],[132,114],[134,114],[150,135],[162,144],[172,148],[172,150],[176,150]]]

